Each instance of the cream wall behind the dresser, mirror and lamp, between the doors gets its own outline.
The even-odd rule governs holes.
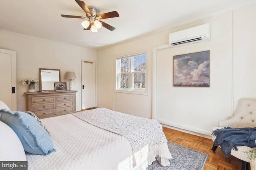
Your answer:
[[[26,95],[28,85],[22,85],[21,78],[37,78],[39,68],[60,69],[61,81],[67,71],[74,71],[77,80],[73,80],[76,93],[76,110],[80,110],[81,93],[81,60],[96,61],[96,51],[75,47],[63,43],[37,39],[0,31],[0,48],[17,52],[17,109],[26,111]],[[39,83],[36,84],[38,91]]]

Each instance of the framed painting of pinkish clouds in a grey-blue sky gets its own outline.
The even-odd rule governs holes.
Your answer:
[[[173,86],[210,87],[210,51],[173,56]]]

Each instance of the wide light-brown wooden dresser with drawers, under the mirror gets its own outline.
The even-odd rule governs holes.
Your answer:
[[[26,92],[27,110],[39,118],[73,113],[76,111],[76,92],[77,90]]]

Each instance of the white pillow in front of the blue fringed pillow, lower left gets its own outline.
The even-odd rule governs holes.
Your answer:
[[[16,133],[0,121],[0,161],[26,161],[25,151]]]

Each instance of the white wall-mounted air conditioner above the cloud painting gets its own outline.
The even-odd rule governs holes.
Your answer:
[[[171,47],[200,43],[210,40],[210,24],[206,23],[196,27],[184,29],[169,34],[169,44]]]

